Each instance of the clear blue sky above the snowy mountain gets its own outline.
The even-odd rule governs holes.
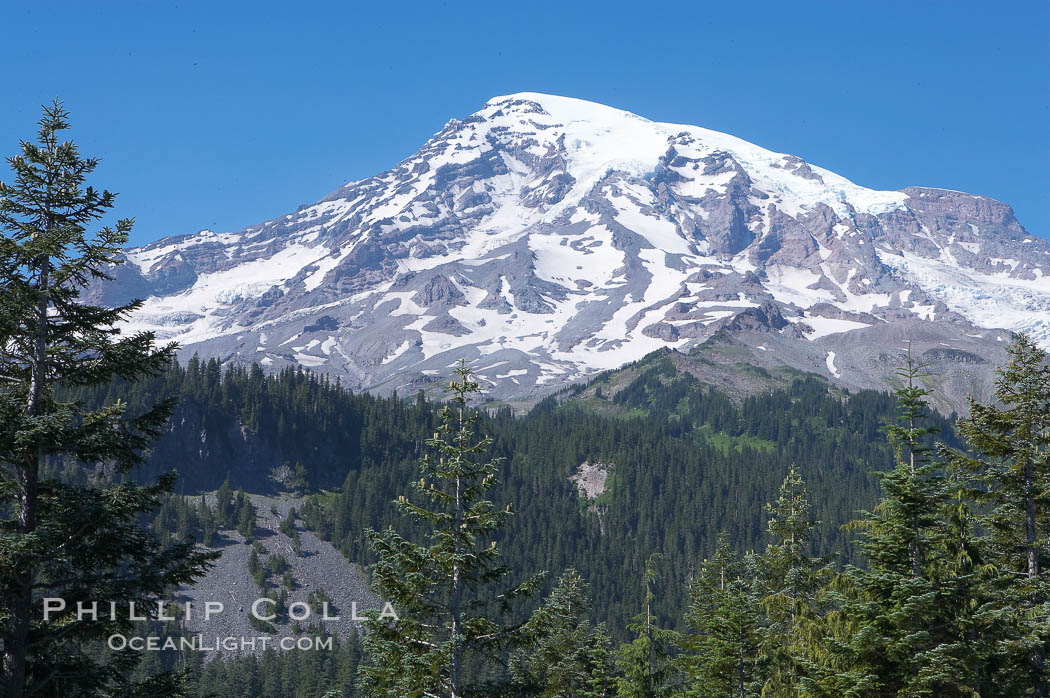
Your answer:
[[[1050,235],[1046,0],[8,0],[2,20],[0,153],[61,97],[136,244],[286,213],[523,90],[727,131],[868,187],[993,196]]]

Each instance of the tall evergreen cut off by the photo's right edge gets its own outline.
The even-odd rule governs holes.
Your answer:
[[[1050,668],[1050,366],[1026,335],[1007,350],[995,401],[970,402],[959,423],[970,453],[948,451],[972,481],[985,532],[981,554],[994,570],[990,616],[995,652],[987,685],[1008,682],[1018,695],[1048,695]]]

